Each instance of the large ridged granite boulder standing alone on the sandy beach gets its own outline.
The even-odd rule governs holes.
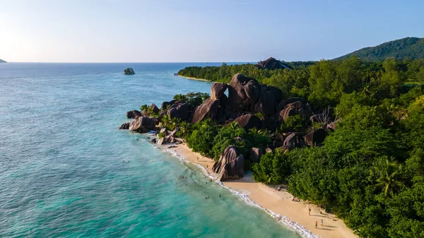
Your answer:
[[[218,174],[220,181],[229,179],[241,179],[245,176],[245,159],[238,155],[234,145],[225,148],[219,160],[213,164],[212,171]]]

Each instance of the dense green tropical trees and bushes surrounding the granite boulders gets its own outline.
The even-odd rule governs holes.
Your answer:
[[[293,68],[245,64],[184,72],[223,82],[244,73],[280,88],[284,98],[305,97],[314,112],[334,107],[333,116],[342,120],[322,146],[267,153],[252,165],[254,179],[287,184],[294,196],[331,210],[360,237],[424,237],[424,59],[367,62],[351,56]],[[280,131],[307,130],[306,123],[289,117]],[[192,132],[189,146],[211,157],[230,144],[246,153],[253,133],[264,136],[237,125],[208,125]]]

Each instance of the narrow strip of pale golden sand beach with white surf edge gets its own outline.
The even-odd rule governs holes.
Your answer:
[[[247,174],[243,179],[219,182],[216,174],[212,172],[214,160],[193,152],[186,144],[182,143],[170,148],[170,144],[156,145],[160,150],[179,157],[180,160],[191,162],[208,174],[211,179],[224,186],[243,201],[263,209],[271,217],[281,221],[285,227],[300,234],[302,237],[323,238],[356,238],[351,229],[346,227],[342,220],[333,214],[325,213],[322,208],[305,201],[292,201],[292,195],[285,189],[276,191],[276,186],[267,186],[254,182],[252,174]],[[308,209],[311,208],[311,215]],[[314,227],[315,222],[324,220],[324,225]]]

